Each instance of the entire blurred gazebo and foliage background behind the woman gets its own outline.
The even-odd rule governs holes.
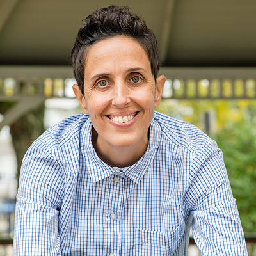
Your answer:
[[[216,140],[256,255],[255,0],[0,0],[0,256],[13,254],[22,157],[45,129],[81,113],[70,49],[82,20],[109,4],[129,6],[156,33],[167,78],[157,110]],[[200,255],[192,236],[188,255]]]

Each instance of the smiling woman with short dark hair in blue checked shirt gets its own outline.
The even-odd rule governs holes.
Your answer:
[[[221,151],[154,111],[154,33],[127,8],[88,16],[72,49],[84,112],[46,131],[22,164],[15,255],[247,255]]]

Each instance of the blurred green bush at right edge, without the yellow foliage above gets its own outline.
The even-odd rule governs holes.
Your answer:
[[[255,122],[228,124],[215,138],[224,161],[244,232],[256,231],[256,129]]]

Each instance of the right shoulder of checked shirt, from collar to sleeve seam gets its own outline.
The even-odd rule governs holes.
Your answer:
[[[176,147],[186,148],[191,152],[210,150],[217,147],[203,131],[189,122],[178,120],[164,113],[154,111],[154,120],[160,125],[162,137]]]

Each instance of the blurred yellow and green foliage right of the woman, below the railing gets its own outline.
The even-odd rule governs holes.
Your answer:
[[[216,113],[216,134],[210,134],[223,151],[244,232],[256,232],[256,101],[165,99],[156,108],[200,129],[202,113]]]

